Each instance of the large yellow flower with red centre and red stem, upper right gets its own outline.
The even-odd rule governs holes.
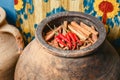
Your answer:
[[[106,24],[107,19],[114,18],[118,14],[119,4],[115,0],[96,0],[94,2],[94,9],[98,15],[103,17],[102,21]]]

